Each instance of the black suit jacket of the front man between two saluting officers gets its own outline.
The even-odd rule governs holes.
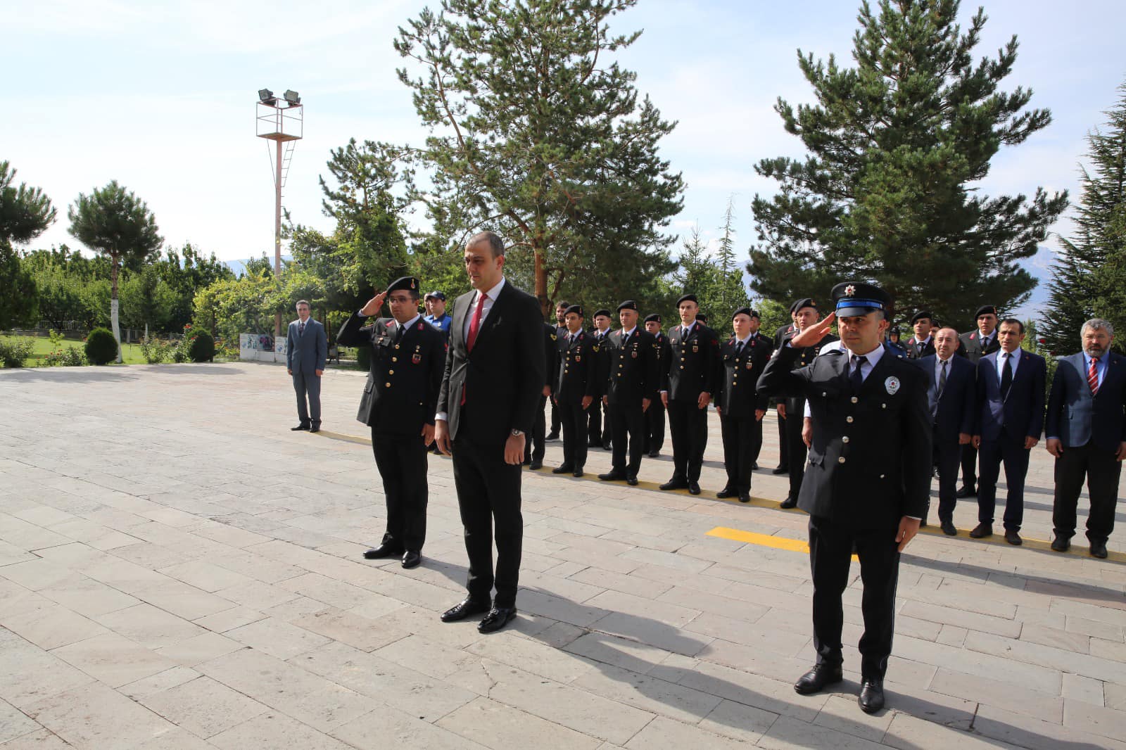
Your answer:
[[[467,292],[454,301],[454,323],[437,411],[446,412],[449,435],[455,440],[462,414],[470,409],[470,437],[503,445],[513,429],[531,432],[536,407],[547,382],[544,318],[536,298],[506,279],[470,352],[464,331],[475,294]],[[463,386],[465,405],[462,405]]]

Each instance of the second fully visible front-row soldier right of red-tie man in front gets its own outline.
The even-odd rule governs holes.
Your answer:
[[[625,480],[637,484],[642,447],[645,439],[645,412],[652,409],[661,387],[653,337],[637,325],[637,303],[626,300],[618,305],[622,328],[599,345],[609,364],[602,389],[602,405],[610,426],[614,446],[611,470],[599,474],[605,481]],[[626,452],[629,463],[626,464]]]

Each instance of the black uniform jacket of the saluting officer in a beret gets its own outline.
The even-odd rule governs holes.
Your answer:
[[[337,343],[372,348],[367,383],[356,419],[381,432],[419,435],[434,425],[438,391],[446,367],[446,334],[418,318],[395,342],[399,324],[352,314],[340,328]]]

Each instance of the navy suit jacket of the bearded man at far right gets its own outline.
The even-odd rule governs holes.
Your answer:
[[[1060,358],[1048,396],[1046,435],[1060,438],[1065,448],[1094,440],[1100,449],[1116,452],[1126,441],[1126,357],[1107,356],[1107,374],[1093,396],[1087,384],[1083,354]]]

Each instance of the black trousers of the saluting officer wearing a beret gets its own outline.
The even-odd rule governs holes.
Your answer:
[[[388,435],[372,428],[372,452],[387,501],[384,544],[421,552],[426,541],[427,447],[418,435]]]

